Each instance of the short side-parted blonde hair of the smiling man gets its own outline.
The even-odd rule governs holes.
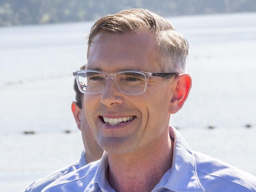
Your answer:
[[[185,72],[189,44],[172,24],[147,9],[129,9],[99,18],[88,35],[88,52],[93,38],[100,31],[110,33],[153,33],[158,52],[156,59],[162,72]]]

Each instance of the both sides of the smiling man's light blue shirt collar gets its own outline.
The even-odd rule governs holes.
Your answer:
[[[169,134],[174,140],[173,164],[172,167],[163,175],[158,185],[152,191],[166,188],[174,192],[204,192],[197,176],[196,163],[193,151],[186,140],[174,128],[169,127]],[[90,184],[84,190],[92,189],[95,191],[100,188],[102,191],[114,191],[108,183],[108,153],[104,151],[100,159],[99,166]]]

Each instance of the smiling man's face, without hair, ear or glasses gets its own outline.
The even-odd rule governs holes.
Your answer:
[[[88,54],[88,69],[115,73],[122,70],[161,72],[156,61],[156,39],[149,33],[98,33]],[[102,94],[84,95],[85,113],[98,144],[111,153],[129,153],[166,137],[172,80],[149,78],[147,91],[140,95],[119,92],[108,79]],[[106,118],[133,117],[111,126]],[[163,136],[164,135],[164,136]]]

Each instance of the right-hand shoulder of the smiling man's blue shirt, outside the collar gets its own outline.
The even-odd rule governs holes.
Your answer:
[[[206,191],[256,192],[256,177],[218,159],[195,152],[197,175]]]

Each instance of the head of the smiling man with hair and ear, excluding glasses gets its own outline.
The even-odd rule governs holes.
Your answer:
[[[186,39],[167,20],[145,9],[131,9],[100,18],[93,25],[87,69],[109,76],[124,70],[182,73],[187,54]],[[95,83],[100,80],[93,78]],[[190,87],[188,74],[150,77],[146,92],[131,96],[107,79],[102,93],[84,96],[87,120],[98,144],[111,153],[130,153],[167,138],[170,114],[181,109]],[[128,117],[132,120],[124,121]],[[120,123],[110,125],[107,120]]]

